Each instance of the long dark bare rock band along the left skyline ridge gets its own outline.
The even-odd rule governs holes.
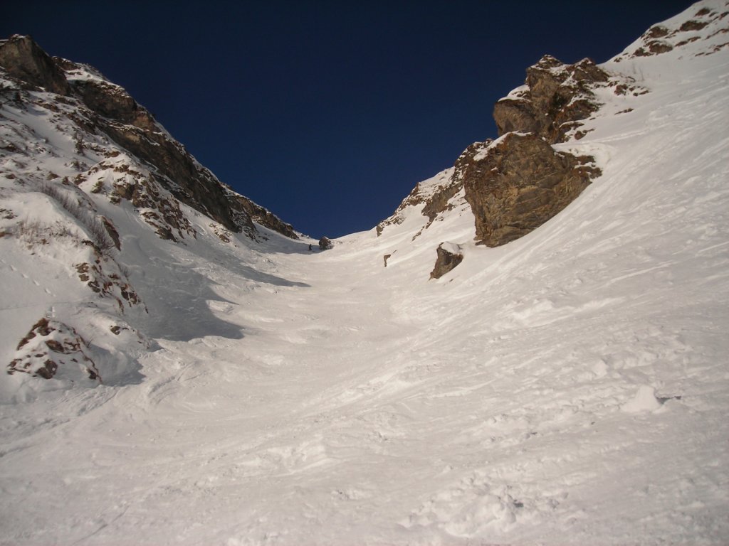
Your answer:
[[[20,87],[44,87],[47,91],[79,100],[90,111],[88,116],[77,116],[77,123],[83,130],[104,132],[123,149],[150,165],[155,182],[185,205],[233,232],[246,232],[253,239],[257,237],[254,221],[286,237],[298,238],[292,226],[222,184],[122,87],[101,76],[98,79],[79,78],[78,74],[88,67],[50,58],[28,36],[12,36],[0,41],[0,66],[18,81]],[[80,141],[77,146],[82,149]],[[188,230],[182,226],[178,231],[182,235]],[[174,239],[171,232],[168,238]]]

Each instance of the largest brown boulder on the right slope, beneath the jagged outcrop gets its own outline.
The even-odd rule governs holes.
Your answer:
[[[510,132],[461,154],[456,175],[475,216],[477,242],[504,245],[541,226],[599,175],[592,162],[559,153],[534,133]]]

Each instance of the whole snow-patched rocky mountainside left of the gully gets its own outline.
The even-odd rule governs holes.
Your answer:
[[[136,380],[160,312],[159,301],[147,305],[157,287],[139,288],[145,269],[198,242],[248,244],[232,232],[260,241],[259,226],[297,238],[94,68],[51,58],[28,36],[0,41],[0,256],[25,269],[0,262],[30,300],[61,302],[26,309],[21,300],[7,373],[88,386]]]

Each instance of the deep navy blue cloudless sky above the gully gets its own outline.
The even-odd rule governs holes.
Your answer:
[[[494,137],[494,103],[543,54],[603,62],[691,3],[20,0],[0,36],[90,63],[221,181],[338,237]]]

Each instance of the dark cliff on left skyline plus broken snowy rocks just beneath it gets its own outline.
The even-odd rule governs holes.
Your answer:
[[[149,176],[136,173],[112,187],[102,185],[97,191],[108,192],[110,199],[133,200],[137,207],[140,202],[144,207],[152,207],[147,220],[160,236],[176,239],[183,232],[191,233],[180,225],[179,206],[175,202],[179,200],[221,223],[225,229],[245,232],[252,239],[258,236],[254,221],[286,237],[297,238],[292,226],[222,184],[146,108],[93,68],[51,58],[29,36],[12,36],[0,42],[0,67],[18,89],[48,92],[45,106],[55,111],[77,106],[69,112],[77,125],[74,136],[77,151],[83,152],[88,147],[93,152],[92,141],[101,133],[131,157],[152,167]],[[23,102],[18,92],[12,98],[18,105]],[[117,172],[124,168],[118,159],[107,166]],[[128,166],[127,170],[133,167]],[[77,184],[96,174],[79,171],[74,178]],[[161,197],[163,193],[170,196]],[[140,197],[141,194],[147,197]]]

